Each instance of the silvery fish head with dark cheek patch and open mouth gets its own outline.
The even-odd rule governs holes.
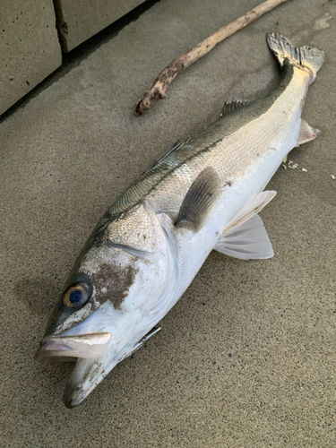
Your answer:
[[[35,359],[76,361],[73,407],[157,322],[146,319],[168,282],[165,231],[147,202],[98,227],[73,266]]]

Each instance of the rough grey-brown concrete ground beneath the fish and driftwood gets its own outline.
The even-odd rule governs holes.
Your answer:
[[[336,446],[335,2],[283,4],[133,114],[168,62],[258,3],[163,0],[0,125],[1,446]],[[274,85],[268,30],[326,55],[303,113],[322,132],[291,153],[298,169],[279,168],[269,185],[278,195],[262,212],[274,258],[212,252],[162,332],[66,409],[72,366],[41,366],[33,354],[76,255],[168,145],[228,97]]]

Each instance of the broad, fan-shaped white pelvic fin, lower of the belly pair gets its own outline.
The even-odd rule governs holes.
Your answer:
[[[263,220],[258,215],[222,235],[215,249],[240,260],[263,260],[274,255]]]

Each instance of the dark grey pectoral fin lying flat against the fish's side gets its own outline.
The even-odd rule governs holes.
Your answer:
[[[202,228],[220,195],[220,177],[212,167],[204,168],[189,188],[177,217],[177,226],[197,232]]]

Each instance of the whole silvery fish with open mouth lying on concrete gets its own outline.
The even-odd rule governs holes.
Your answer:
[[[269,259],[259,212],[293,148],[319,133],[301,118],[323,51],[266,35],[280,83],[263,99],[225,103],[202,134],[177,142],[125,190],[82,248],[35,359],[75,362],[64,402],[78,406],[159,332],[211,253]]]

